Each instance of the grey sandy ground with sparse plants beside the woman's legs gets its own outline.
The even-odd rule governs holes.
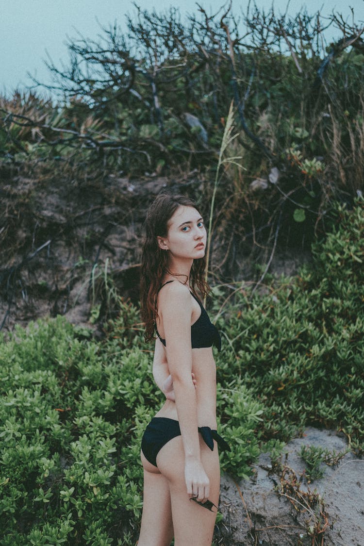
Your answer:
[[[219,544],[364,545],[364,460],[348,452],[337,466],[321,463],[323,477],[308,483],[305,477],[300,480],[305,471],[299,455],[302,444],[332,453],[344,452],[348,444],[335,431],[308,428],[284,449],[285,478],[296,477],[302,493],[319,494],[319,503],[307,506],[306,497],[300,504],[298,499],[279,494],[282,471],[272,467],[267,454],[261,454],[254,479],[235,482],[222,477],[220,512],[224,519],[219,524]]]

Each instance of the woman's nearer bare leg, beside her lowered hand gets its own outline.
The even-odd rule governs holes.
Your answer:
[[[202,465],[210,480],[210,496],[218,506],[220,489],[220,467],[218,448],[214,442],[211,451],[200,437]],[[157,455],[160,472],[168,479],[175,546],[211,546],[216,513],[208,511],[189,500],[184,482],[184,453],[181,436],[172,438]]]

